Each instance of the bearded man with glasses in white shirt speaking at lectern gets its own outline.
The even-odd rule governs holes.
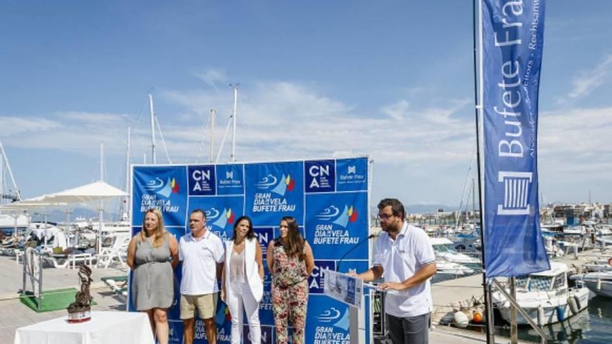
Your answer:
[[[429,278],[435,275],[435,255],[425,231],[405,222],[404,206],[387,198],[378,204],[383,229],[376,242],[373,267],[359,275],[364,281],[381,276],[387,290],[385,313],[394,344],[426,344],[433,302]]]

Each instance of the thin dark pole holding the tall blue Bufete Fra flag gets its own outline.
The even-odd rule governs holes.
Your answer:
[[[478,1],[478,24],[476,24],[476,1]],[[491,306],[490,286],[487,284],[487,270],[485,263],[485,221],[483,202],[483,163],[481,160],[481,118],[483,114],[483,2],[472,0],[472,26],[474,28],[473,54],[474,54],[474,111],[476,115],[476,161],[478,164],[478,205],[480,208],[481,242],[483,257],[483,294],[485,298],[485,323],[487,330],[487,344],[494,344],[493,307]],[[478,43],[476,43],[478,41]],[[478,58],[478,63],[476,63]]]

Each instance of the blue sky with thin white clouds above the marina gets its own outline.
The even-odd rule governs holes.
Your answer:
[[[474,166],[471,6],[1,1],[0,140],[24,197],[99,179],[100,142],[107,181],[122,186],[127,126],[132,160],[149,152],[148,92],[172,162],[193,163],[208,159],[211,108],[220,142],[238,82],[239,161],[367,154],[373,201],[457,206]],[[548,202],[588,190],[612,202],[610,13],[608,0],[547,1]]]

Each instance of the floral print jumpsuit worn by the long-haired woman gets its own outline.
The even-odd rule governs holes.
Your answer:
[[[308,275],[306,262],[289,257],[280,242],[274,243],[272,272],[272,311],[276,343],[287,344],[287,320],[293,326],[293,344],[304,344]]]

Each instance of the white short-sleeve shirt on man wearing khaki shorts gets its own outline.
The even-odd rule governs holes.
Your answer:
[[[217,293],[217,264],[225,259],[223,241],[211,231],[196,239],[191,233],[182,236],[179,259],[183,263],[181,294]]]

